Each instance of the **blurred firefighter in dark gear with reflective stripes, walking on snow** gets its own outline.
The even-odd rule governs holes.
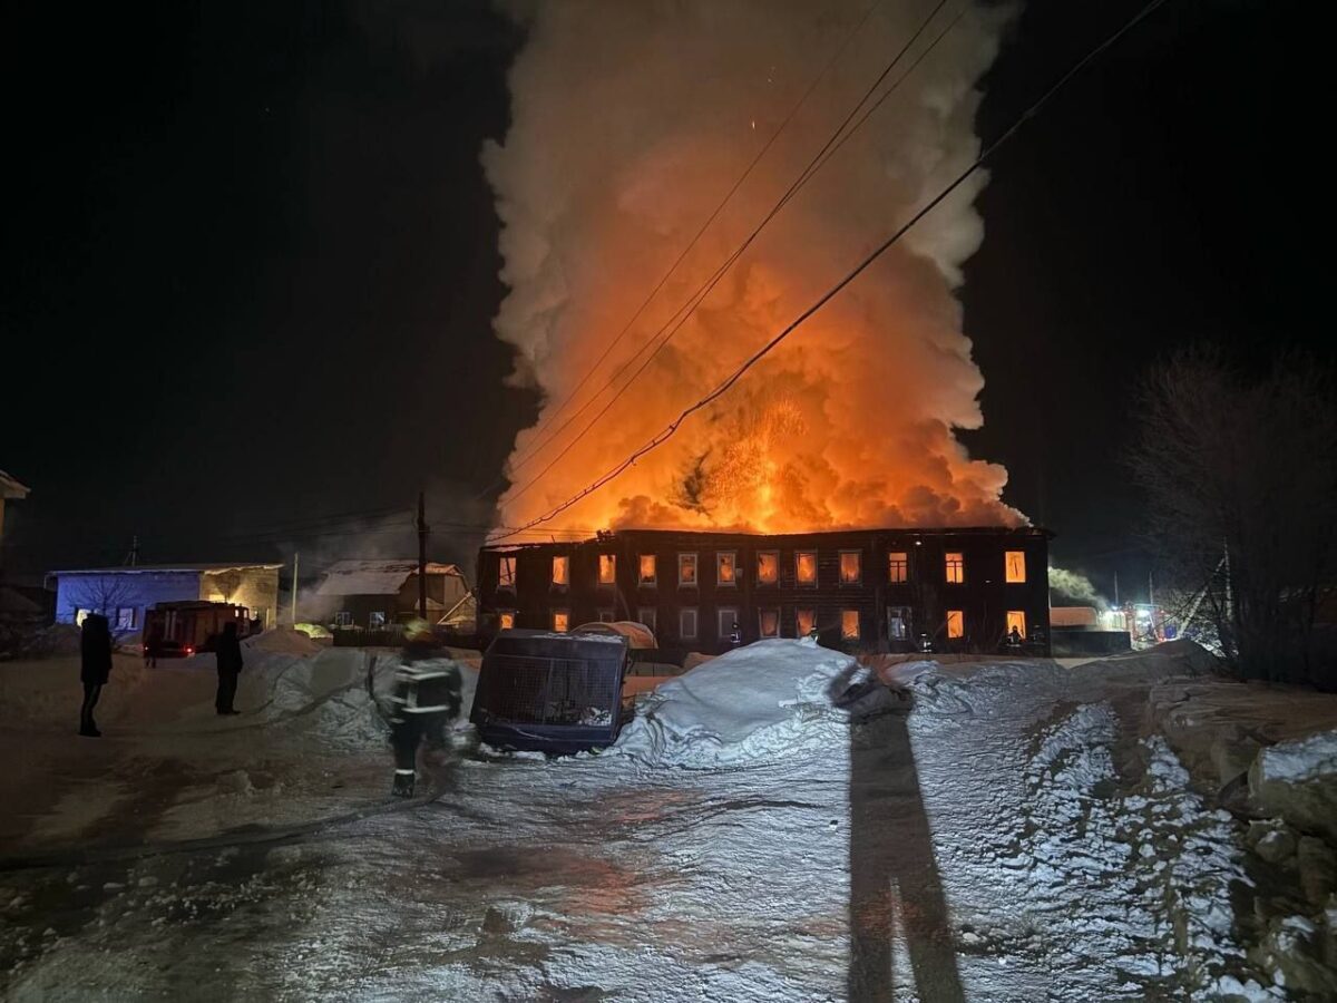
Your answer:
[[[445,744],[445,726],[460,713],[460,670],[436,647],[427,621],[404,625],[404,651],[390,694],[390,742],[394,746],[394,797],[413,797],[417,749]]]

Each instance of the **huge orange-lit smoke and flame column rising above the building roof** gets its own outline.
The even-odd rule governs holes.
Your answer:
[[[852,39],[576,407],[750,233],[931,5],[885,0],[854,32],[868,8],[868,0],[566,0],[523,15],[528,41],[509,78],[512,126],[483,162],[503,221],[509,288],[496,333],[515,346],[512,380],[536,385],[547,403],[539,427],[516,440],[504,524],[547,511],[643,445],[977,155],[976,83],[993,60],[1001,17],[967,7],[632,389],[525,487],[608,395],[535,453],[551,435],[541,425],[552,409],[830,55]],[[948,23],[947,12],[940,16],[910,59]],[[972,207],[983,185],[975,175],[729,395],[547,526],[796,531],[1023,522],[1000,500],[1007,472],[972,460],[955,437],[981,423],[983,377],[953,289],[983,237]]]

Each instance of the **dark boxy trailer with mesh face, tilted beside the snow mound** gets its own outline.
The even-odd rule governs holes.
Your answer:
[[[611,745],[624,719],[627,650],[622,634],[503,630],[483,655],[469,721],[497,749]]]

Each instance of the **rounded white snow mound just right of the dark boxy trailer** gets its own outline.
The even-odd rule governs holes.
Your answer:
[[[850,655],[808,638],[759,641],[666,682],[610,752],[654,766],[711,768],[845,744],[848,714],[832,706],[829,690],[858,671]]]

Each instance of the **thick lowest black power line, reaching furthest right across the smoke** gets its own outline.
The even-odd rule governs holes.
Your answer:
[[[677,419],[674,419],[667,427],[664,427],[663,431],[655,435],[648,443],[646,443],[643,447],[632,452],[622,463],[608,469],[603,476],[600,476],[592,484],[586,487],[583,491],[571,496],[570,499],[554,507],[552,510],[544,512],[539,518],[529,520],[523,527],[519,527],[519,530],[529,530],[535,526],[548,522],[550,519],[555,518],[560,512],[564,512],[567,508],[576,504],[582,499],[594,493],[604,484],[611,481],[614,477],[622,475],[628,467],[634,465],[635,461],[639,460],[642,456],[644,456],[652,449],[656,449],[664,441],[671,439],[674,433],[678,431],[678,428],[682,425],[682,423],[686,421],[693,413],[701,411],[702,408],[707,407],[709,404],[711,404],[713,401],[727,393],[733,388],[733,385],[738,382],[738,380],[741,380],[747,373],[749,369],[751,369],[777,345],[779,345],[794,330],[797,330],[805,321],[808,321],[813,314],[816,314],[836,296],[838,296],[841,290],[844,290],[850,282],[858,278],[858,275],[861,275],[874,261],[877,261],[882,254],[885,254],[892,247],[892,245],[894,245],[906,233],[909,233],[909,230],[916,223],[919,223],[920,219],[923,219],[925,215],[933,211],[933,209],[937,207],[937,205],[943,202],[943,199],[945,199],[948,195],[956,191],[956,189],[960,187],[967,178],[975,174],[975,171],[977,171],[989,156],[992,156],[1000,147],[1003,147],[1003,144],[1011,140],[1012,136],[1015,136],[1017,131],[1021,128],[1021,126],[1024,126],[1029,119],[1032,119],[1036,114],[1039,114],[1040,108],[1043,108],[1044,104],[1068,83],[1068,80],[1076,76],[1088,63],[1091,63],[1091,60],[1096,59],[1100,53],[1103,53],[1106,49],[1114,45],[1119,39],[1122,39],[1127,32],[1130,32],[1134,27],[1136,27],[1142,20],[1144,20],[1154,11],[1157,11],[1163,3],[1165,0],[1150,0],[1150,3],[1147,3],[1140,11],[1138,11],[1132,17],[1124,21],[1124,24],[1120,28],[1118,28],[1112,35],[1107,36],[1104,41],[1102,41],[1099,45],[1087,52],[1082,59],[1074,63],[1072,67],[1070,67],[1066,74],[1063,74],[1058,80],[1055,80],[1048,90],[1046,90],[1035,102],[1032,102],[1031,106],[1027,107],[1027,110],[1023,111],[1021,115],[1019,115],[997,139],[989,143],[988,147],[985,147],[984,151],[964,171],[961,171],[947,187],[939,191],[939,194],[935,195],[919,211],[916,211],[915,215],[909,218],[909,221],[906,221],[890,237],[888,237],[882,243],[880,243],[870,254],[868,254],[868,257],[865,257],[858,265],[856,265],[853,270],[850,270],[844,278],[841,278],[840,282],[837,282],[834,286],[826,290],[821,297],[818,297],[818,300],[814,304],[812,304],[806,310],[804,310],[783,330],[781,330],[761,349],[753,353],[741,366],[738,366],[738,369],[735,369],[714,391],[707,393],[705,397],[698,400],[691,407],[686,408],[681,415],[678,415]],[[513,535],[513,531],[493,535],[488,539],[488,543],[495,543],[497,540],[508,539],[511,535]]]

